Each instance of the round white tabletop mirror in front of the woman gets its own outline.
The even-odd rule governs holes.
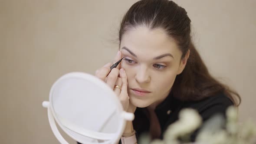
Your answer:
[[[48,108],[50,126],[62,144],[68,142],[59,133],[55,121],[82,144],[114,144],[118,143],[126,121],[134,119],[134,114],[123,110],[118,97],[105,82],[82,72],[59,78],[43,107]]]

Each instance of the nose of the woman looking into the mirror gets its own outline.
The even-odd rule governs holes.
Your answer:
[[[140,68],[135,75],[135,79],[138,83],[148,83],[150,82],[150,76],[147,68]]]

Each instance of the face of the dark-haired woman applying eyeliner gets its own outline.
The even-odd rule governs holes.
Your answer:
[[[139,108],[163,101],[187,62],[181,60],[174,39],[161,28],[129,29],[122,36],[120,50],[124,57],[121,68],[128,76],[128,95],[131,104]]]

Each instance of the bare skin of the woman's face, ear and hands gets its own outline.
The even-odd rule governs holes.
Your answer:
[[[96,71],[96,76],[113,88],[125,111],[133,113],[137,107],[154,110],[168,96],[190,53],[181,59],[181,50],[164,29],[146,26],[129,29],[122,36],[118,52],[121,53],[115,56],[114,62],[124,57],[121,66],[110,72],[112,63],[108,63]],[[122,85],[121,90],[114,85]],[[149,92],[140,96],[134,88]],[[124,133],[132,131],[132,122],[128,121]]]

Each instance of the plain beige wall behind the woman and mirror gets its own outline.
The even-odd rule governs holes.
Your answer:
[[[135,1],[0,0],[1,144],[58,143],[42,101],[61,75],[112,60],[118,22]],[[256,120],[256,0],[176,2],[210,71],[240,93],[240,121]]]

